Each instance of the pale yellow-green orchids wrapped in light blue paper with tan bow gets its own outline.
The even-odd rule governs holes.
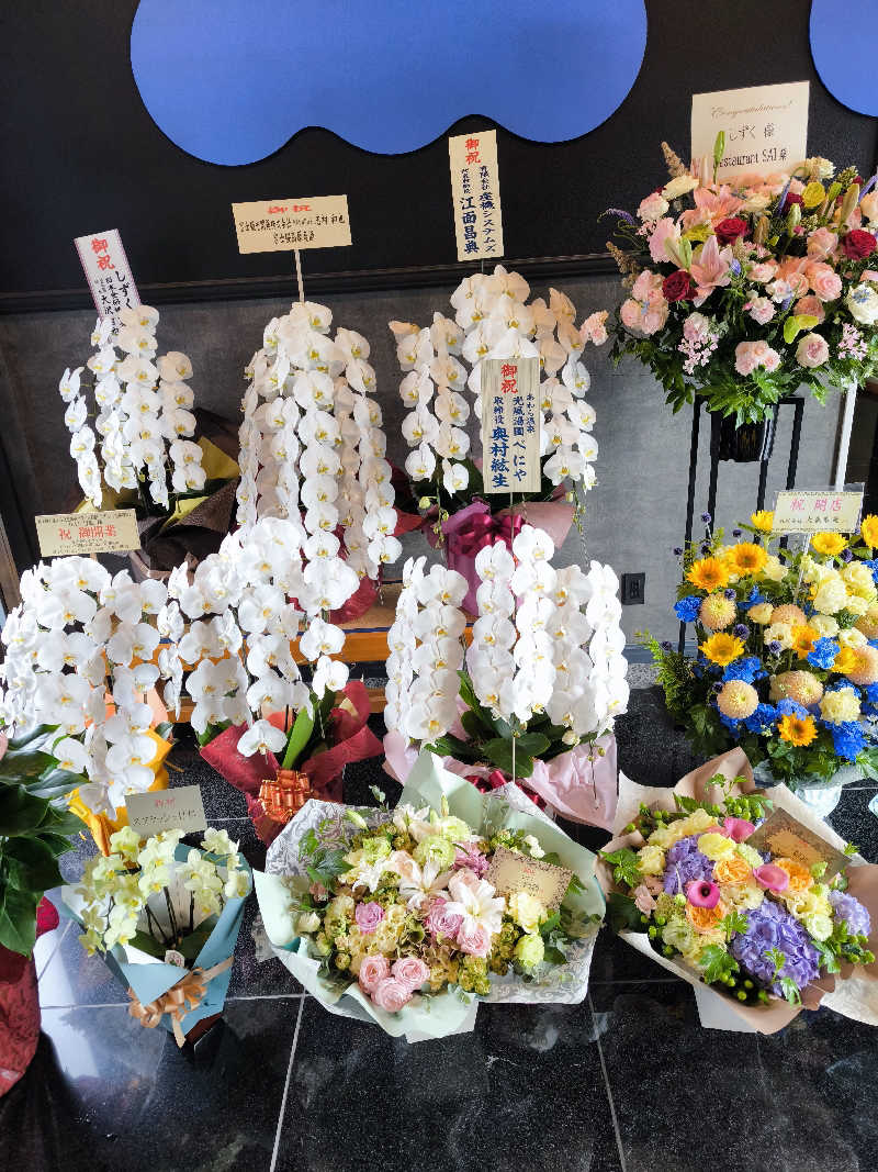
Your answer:
[[[80,936],[126,986],[129,1013],[162,1024],[178,1045],[221,1011],[232,953],[251,890],[251,870],[225,830],[208,827],[201,849],[170,830],[142,841],[130,826],[110,837],[111,853],[85,864],[78,887],[64,887]]]

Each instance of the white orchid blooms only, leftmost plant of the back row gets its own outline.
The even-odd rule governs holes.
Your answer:
[[[107,489],[139,492],[148,512],[170,512],[172,496],[204,490],[201,448],[192,442],[192,363],[178,350],[156,356],[158,320],[158,309],[145,305],[125,307],[118,322],[98,318],[95,353],[84,367],[64,370],[59,384],[70,455],[95,509]]]

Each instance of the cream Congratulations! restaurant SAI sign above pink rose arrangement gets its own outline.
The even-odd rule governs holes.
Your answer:
[[[750,86],[692,95],[692,158],[705,155],[722,130],[726,151],[716,178],[747,172],[773,175],[801,163],[808,150],[807,81]]]

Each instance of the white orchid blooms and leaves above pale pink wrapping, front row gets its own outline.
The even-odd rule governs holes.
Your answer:
[[[480,550],[479,618],[465,652],[468,584],[410,559],[387,643],[389,730],[462,762],[527,778],[534,759],[594,742],[625,711],[618,579],[591,563],[556,570],[542,530]],[[466,740],[452,729],[462,727]]]

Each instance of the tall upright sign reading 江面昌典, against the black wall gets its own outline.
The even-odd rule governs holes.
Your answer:
[[[448,139],[448,159],[458,260],[499,260],[503,254],[503,219],[496,130],[454,135]]]

